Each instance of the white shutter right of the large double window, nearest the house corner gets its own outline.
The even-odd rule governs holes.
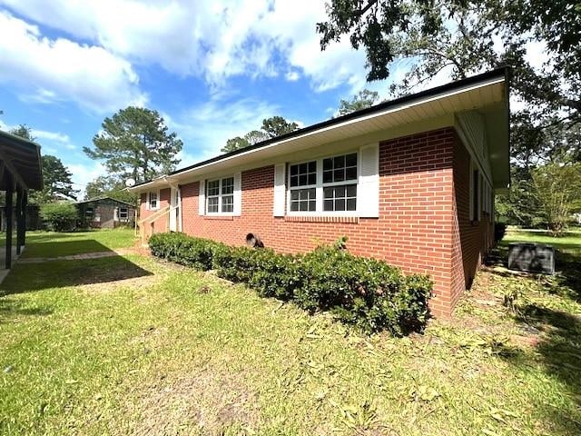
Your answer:
[[[359,149],[357,212],[362,218],[379,218],[379,144]]]

